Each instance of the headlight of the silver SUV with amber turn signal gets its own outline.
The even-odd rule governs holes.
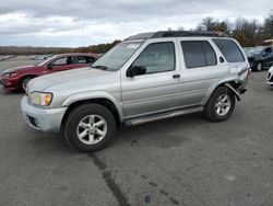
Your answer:
[[[29,103],[39,106],[49,106],[54,94],[49,92],[32,92],[29,93]]]

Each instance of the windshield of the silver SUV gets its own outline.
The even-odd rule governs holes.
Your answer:
[[[119,70],[126,61],[136,52],[142,42],[120,43],[102,56],[92,68],[104,70]]]

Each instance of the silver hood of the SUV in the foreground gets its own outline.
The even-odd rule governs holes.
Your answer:
[[[28,82],[27,92],[62,92],[74,93],[102,89],[112,82],[119,82],[120,71],[105,71],[99,69],[80,68],[60,71],[35,78]]]

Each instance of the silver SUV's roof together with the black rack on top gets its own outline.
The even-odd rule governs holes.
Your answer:
[[[183,36],[206,36],[206,37],[229,37],[226,33],[219,31],[159,31],[141,33],[127,38],[131,39],[147,39],[147,38],[164,38],[164,37],[183,37]]]

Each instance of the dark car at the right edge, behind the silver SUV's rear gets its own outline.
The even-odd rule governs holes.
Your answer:
[[[261,71],[273,65],[273,46],[257,46],[246,52],[250,67]]]

